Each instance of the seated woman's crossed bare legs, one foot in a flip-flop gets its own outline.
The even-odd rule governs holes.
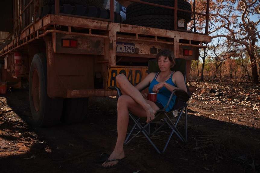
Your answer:
[[[119,82],[120,81],[120,82]],[[129,110],[132,113],[135,113],[138,116],[146,117],[147,112],[148,114],[154,118],[154,114],[156,113],[155,110],[159,108],[149,100],[147,101],[152,105],[148,104],[146,100],[144,100],[141,93],[132,86],[125,76],[117,77],[117,84],[119,85],[122,96],[119,97],[117,102],[117,141],[116,146],[109,156],[108,160],[110,159],[123,159],[125,157],[123,145],[125,141],[125,136],[127,132],[127,126],[129,122]],[[129,85],[128,85],[129,84]],[[141,100],[141,101],[140,101]],[[151,119],[149,119],[151,121]],[[112,162],[104,162],[102,166],[108,167],[117,164],[118,161]]]

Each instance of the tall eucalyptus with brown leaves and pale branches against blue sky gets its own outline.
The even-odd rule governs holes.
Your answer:
[[[210,23],[212,38],[225,37],[227,42],[243,45],[250,57],[252,82],[259,83],[259,0],[212,0]]]

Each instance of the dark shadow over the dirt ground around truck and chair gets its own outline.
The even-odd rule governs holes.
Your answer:
[[[124,147],[127,159],[116,168],[103,169],[94,158],[112,152],[116,143],[115,99],[105,97],[92,100],[84,122],[37,128],[25,113],[28,102],[7,96],[7,104],[14,114],[3,112],[0,130],[5,131],[0,165],[2,172],[260,172],[260,129],[222,122],[188,114],[188,144],[173,135],[166,153],[159,155],[146,138],[137,137]],[[15,101],[16,100],[16,101]],[[24,101],[24,109],[17,102]],[[13,116],[13,117],[11,117]],[[21,117],[15,118],[16,116]],[[3,119],[5,117],[6,120]],[[9,121],[10,117],[14,121]],[[28,120],[29,117],[29,121]],[[128,131],[132,128],[130,120]],[[178,130],[182,133],[184,119]],[[161,131],[167,131],[167,128]],[[21,133],[21,135],[18,135]],[[9,134],[9,136],[8,136]],[[162,149],[166,133],[158,133],[152,140]],[[28,148],[33,143],[46,142],[38,152]],[[8,144],[8,142],[10,144]],[[35,158],[30,158],[35,156]]]

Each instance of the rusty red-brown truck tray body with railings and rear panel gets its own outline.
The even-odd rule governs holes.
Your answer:
[[[33,2],[35,1],[30,1],[31,4],[24,7],[31,7]],[[130,2],[140,1],[131,0]],[[110,1],[112,7],[110,17],[112,19],[113,3],[113,1]],[[150,4],[147,2],[141,3]],[[177,1],[175,3],[177,4]],[[19,11],[19,8],[17,6],[16,10]],[[59,14],[59,0],[55,0],[55,8],[56,14]],[[173,7],[167,8],[174,9]],[[20,9],[20,11],[24,11],[24,9]],[[177,14],[177,10],[175,10],[175,13]],[[15,17],[21,16],[22,14],[15,14]],[[116,66],[117,63],[121,62],[129,64],[147,62],[149,58],[155,58],[156,53],[164,48],[172,50],[176,57],[185,58],[190,62],[198,59],[199,48],[206,47],[204,43],[211,42],[211,37],[205,34],[185,30],[177,31],[176,24],[174,25],[175,30],[165,30],[69,14],[47,14],[41,19],[33,20],[33,22],[30,20],[31,23],[27,23],[28,25],[22,23],[22,30],[19,30],[17,26],[20,20],[18,18],[14,20],[14,32],[16,34],[14,34],[12,42],[0,50],[0,56],[4,57],[13,51],[26,51],[27,49],[30,52],[28,56],[28,63],[30,64],[33,54],[39,50],[33,50],[37,49],[37,46],[27,47],[27,45],[35,45],[35,43],[37,45],[46,41],[48,95],[51,98],[114,95],[112,91],[106,90],[108,84],[110,84],[108,81],[111,81],[108,67],[111,68],[111,66]],[[78,40],[78,47],[63,48],[61,39],[76,39]],[[133,45],[135,49],[131,53],[118,51],[116,49],[117,42]],[[192,49],[192,56],[183,56],[183,49]],[[132,67],[125,66],[123,68],[129,74]],[[102,74],[104,89],[94,89],[96,72]],[[135,76],[135,74],[132,75]]]

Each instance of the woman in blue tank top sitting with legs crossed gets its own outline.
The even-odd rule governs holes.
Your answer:
[[[123,144],[127,132],[129,111],[136,116],[146,117],[146,122],[148,123],[154,119],[156,111],[165,107],[174,89],[182,89],[187,92],[182,73],[179,71],[171,71],[171,67],[173,67],[175,63],[173,52],[167,49],[160,51],[156,59],[161,72],[149,73],[147,77],[135,87],[123,74],[116,76],[116,83],[122,92],[117,102],[118,136],[113,152],[102,164],[104,168],[114,167],[125,159]],[[155,103],[147,100],[147,94],[141,94],[140,92],[148,86],[149,92],[157,93],[157,102]],[[176,97],[173,97],[169,107],[174,105],[175,99]]]

